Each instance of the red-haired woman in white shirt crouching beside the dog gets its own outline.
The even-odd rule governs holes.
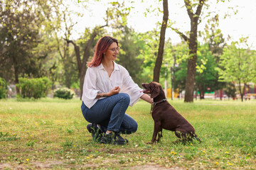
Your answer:
[[[133,106],[139,98],[153,103],[134,83],[127,69],[114,62],[118,52],[117,39],[101,38],[92,61],[87,63],[83,84],[82,115],[90,122],[87,129],[94,140],[102,144],[126,144],[128,140],[119,134],[137,131],[137,122],[125,113],[128,106]]]

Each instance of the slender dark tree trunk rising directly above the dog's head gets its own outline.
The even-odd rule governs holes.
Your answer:
[[[164,7],[164,16],[163,16],[163,21],[162,21],[162,25],[161,25],[159,50],[158,50],[157,57],[156,57],[156,64],[154,67],[154,77],[153,77],[153,81],[156,81],[156,82],[159,82],[160,69],[161,69],[161,64],[163,62],[164,40],[165,40],[166,27],[167,27],[167,22],[168,22],[168,17],[169,17],[168,0],[163,1],[163,7]]]

